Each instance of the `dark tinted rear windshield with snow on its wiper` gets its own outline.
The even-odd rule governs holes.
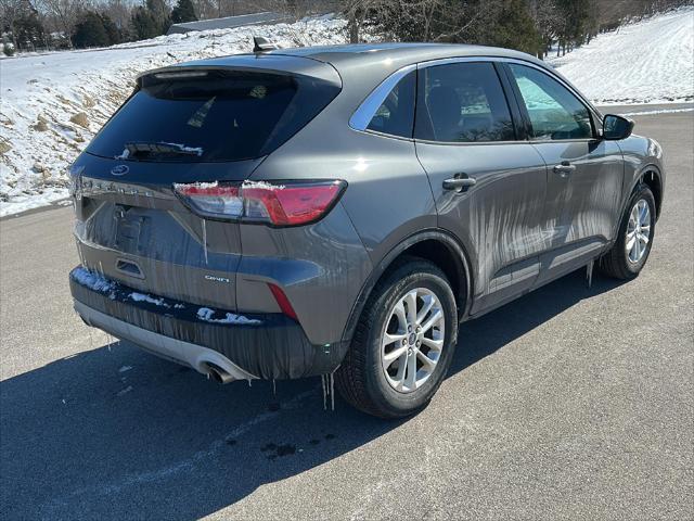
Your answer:
[[[171,74],[177,73],[142,78],[87,152],[136,161],[256,158],[290,139],[339,92],[324,80],[298,75]]]

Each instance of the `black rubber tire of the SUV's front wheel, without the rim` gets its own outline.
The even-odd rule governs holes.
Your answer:
[[[632,262],[628,258],[626,250],[627,228],[629,226],[629,216],[631,214],[631,211],[634,205],[641,200],[644,200],[648,205],[651,229],[648,243],[646,244],[643,256],[638,262]],[[653,246],[653,239],[655,237],[655,199],[653,196],[653,192],[651,192],[651,189],[646,185],[639,185],[629,199],[629,203],[627,204],[625,213],[621,216],[619,231],[617,232],[617,240],[615,241],[612,249],[600,259],[597,266],[603,274],[608,277],[621,280],[633,279],[639,275],[641,269],[643,269],[643,266],[646,264],[648,255],[651,254],[651,247]]]

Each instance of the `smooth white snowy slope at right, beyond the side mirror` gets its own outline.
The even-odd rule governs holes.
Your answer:
[[[694,8],[621,26],[549,62],[599,104],[694,101]]]

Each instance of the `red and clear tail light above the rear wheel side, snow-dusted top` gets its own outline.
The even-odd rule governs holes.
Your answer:
[[[194,182],[174,185],[189,208],[210,219],[299,226],[313,223],[332,209],[345,181],[239,183]]]

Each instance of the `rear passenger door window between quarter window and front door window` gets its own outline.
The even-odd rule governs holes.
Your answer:
[[[462,62],[419,73],[415,137],[441,142],[515,139],[509,104],[491,63]]]

